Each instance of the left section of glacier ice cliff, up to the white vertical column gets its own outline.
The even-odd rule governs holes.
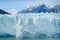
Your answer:
[[[16,35],[15,19],[12,15],[0,15],[0,36]]]

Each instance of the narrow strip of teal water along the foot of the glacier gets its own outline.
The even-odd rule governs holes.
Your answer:
[[[0,38],[0,40],[60,40],[60,38]]]

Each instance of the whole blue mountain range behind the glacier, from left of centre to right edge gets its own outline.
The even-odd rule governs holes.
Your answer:
[[[50,12],[53,12],[53,13],[58,13],[60,12],[60,5],[56,5],[52,8],[48,8],[45,4],[42,4],[42,5],[38,5],[38,6],[30,6],[29,8],[25,9],[25,10],[21,10],[19,11],[18,13],[50,13]]]

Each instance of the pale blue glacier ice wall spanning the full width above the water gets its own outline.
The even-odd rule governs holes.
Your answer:
[[[60,13],[0,15],[0,36],[60,37]]]

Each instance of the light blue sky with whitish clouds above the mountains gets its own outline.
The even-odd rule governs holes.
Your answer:
[[[60,0],[0,0],[0,9],[9,11],[12,9],[23,10],[28,5],[46,4],[48,7],[60,4]]]

